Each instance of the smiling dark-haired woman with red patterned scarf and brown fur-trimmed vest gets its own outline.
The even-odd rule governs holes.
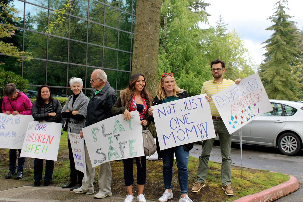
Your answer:
[[[137,110],[140,115],[140,124],[148,126],[149,115],[148,109],[151,107],[151,94],[148,93],[145,85],[145,78],[143,74],[135,73],[129,81],[128,88],[120,92],[120,97],[114,106],[112,106],[112,114],[118,115],[124,113],[125,119],[132,118],[130,111]],[[145,157],[137,157],[137,184],[139,202],[146,202],[143,190],[146,183],[146,160]],[[132,192],[133,177],[133,158],[123,159],[123,173],[125,186],[128,191],[124,202],[132,202],[134,199]]]

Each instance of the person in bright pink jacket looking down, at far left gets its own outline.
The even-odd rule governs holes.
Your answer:
[[[2,113],[6,113],[8,115],[12,114],[13,116],[16,114],[32,114],[32,103],[28,99],[28,97],[16,89],[16,85],[14,83],[8,83],[3,89],[3,102],[2,102]],[[23,177],[23,166],[25,162],[25,157],[20,158],[21,150],[19,151],[18,156],[18,169],[16,174],[16,160],[17,160],[17,150],[10,149],[9,150],[9,172],[5,176],[6,179],[12,178],[13,175],[16,174],[15,179],[21,179]]]

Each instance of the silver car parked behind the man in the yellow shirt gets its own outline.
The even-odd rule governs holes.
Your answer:
[[[270,99],[274,110],[264,113],[242,127],[242,143],[275,146],[285,155],[302,149],[303,103]],[[216,140],[219,140],[218,136]],[[240,142],[239,131],[232,142]]]

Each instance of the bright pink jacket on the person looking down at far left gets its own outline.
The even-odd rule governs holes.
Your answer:
[[[13,113],[16,110],[20,114],[31,115],[32,106],[33,104],[28,97],[19,91],[18,96],[14,100],[9,100],[6,96],[3,98],[2,113],[5,113],[6,111]]]

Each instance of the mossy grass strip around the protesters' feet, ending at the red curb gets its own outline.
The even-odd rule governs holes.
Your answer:
[[[9,161],[8,161],[8,149],[0,149],[0,175],[4,177],[8,173]],[[188,195],[195,201],[233,201],[237,198],[243,197],[248,194],[258,193],[261,190],[268,189],[276,186],[280,183],[289,180],[288,175],[281,173],[272,173],[267,170],[255,170],[242,168],[241,180],[241,168],[232,166],[231,175],[231,187],[234,191],[234,196],[227,196],[221,189],[221,164],[209,162],[209,170],[207,180],[205,181],[205,187],[198,193],[191,193],[192,183],[195,182],[196,172],[198,168],[198,158],[189,157],[188,162]],[[26,158],[24,165],[24,177],[21,181],[32,185],[34,183],[34,159]],[[111,161],[112,167],[112,193],[118,196],[125,197],[127,194],[124,177],[123,177],[123,162]],[[146,170],[147,179],[145,185],[145,197],[148,200],[157,201],[158,198],[164,192],[164,182],[162,174],[163,163],[162,160],[147,160]],[[137,175],[136,165],[134,163],[134,178]],[[60,140],[60,146],[58,151],[58,160],[55,161],[52,185],[61,187],[69,181],[69,159],[68,159],[68,145],[66,139],[66,132],[63,132]],[[43,171],[44,176],[44,171]],[[98,167],[96,167],[95,173],[95,191],[99,190],[98,187]],[[135,179],[136,182],[136,179]],[[180,186],[178,183],[178,169],[176,164],[173,166],[173,180],[172,190],[175,198],[180,196]],[[133,185],[134,195],[138,194],[137,184]]]

